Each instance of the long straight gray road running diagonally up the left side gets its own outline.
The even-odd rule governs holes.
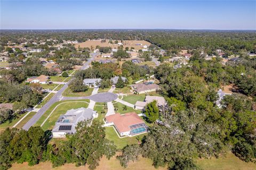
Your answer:
[[[97,53],[91,53],[92,57],[84,63],[81,69],[85,70],[89,68],[91,61],[94,60],[96,55]],[[31,126],[33,126],[37,122],[37,120],[41,118],[41,116],[45,113],[45,111],[52,106],[53,103],[58,102],[63,98],[61,94],[63,91],[66,90],[67,87],[68,87],[68,83],[66,83],[47,103],[45,103],[44,106],[30,120],[28,120],[28,122],[22,128],[25,130],[28,130]]]

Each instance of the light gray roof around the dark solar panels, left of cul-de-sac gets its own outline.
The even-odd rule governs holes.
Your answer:
[[[97,114],[96,111],[89,108],[78,108],[71,109],[66,112],[65,115],[61,115],[57,120],[55,126],[52,129],[52,132],[76,132],[75,127],[78,122],[83,120],[93,119],[93,116]],[[60,131],[60,126],[71,126],[70,130]]]

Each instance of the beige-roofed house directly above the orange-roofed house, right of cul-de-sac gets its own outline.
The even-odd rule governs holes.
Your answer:
[[[166,101],[163,97],[161,96],[150,96],[150,95],[147,95],[145,100],[142,102],[142,101],[137,101],[135,103],[135,106],[134,108],[135,109],[139,109],[139,110],[144,110],[145,109],[145,106],[148,104],[148,103],[151,103],[153,101],[156,101],[157,102],[157,106],[158,107],[163,107],[165,106],[166,104]]]

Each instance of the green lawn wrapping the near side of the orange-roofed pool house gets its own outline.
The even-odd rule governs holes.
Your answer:
[[[141,134],[138,136],[143,137],[144,135],[145,134]],[[123,149],[127,144],[138,143],[136,137],[137,136],[119,138],[113,127],[106,127],[106,138],[110,141],[114,141],[117,149]]]

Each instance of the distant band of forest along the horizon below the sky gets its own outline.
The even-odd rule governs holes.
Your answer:
[[[59,42],[84,42],[88,39],[147,40],[165,50],[201,49],[213,52],[217,49],[231,53],[256,53],[255,31],[203,31],[203,30],[4,30],[1,45],[8,41],[25,42],[33,40],[57,39]]]

